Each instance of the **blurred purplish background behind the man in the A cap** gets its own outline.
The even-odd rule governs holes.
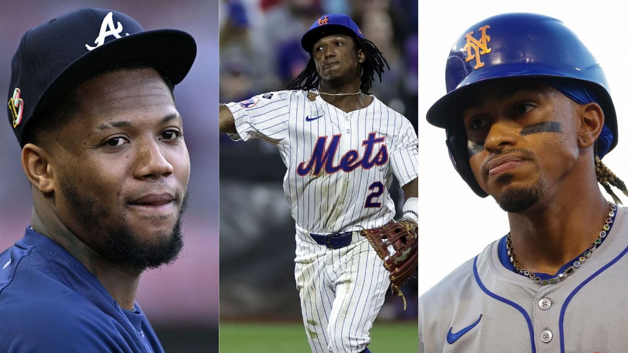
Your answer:
[[[218,347],[218,0],[0,1],[0,92],[7,97],[11,57],[26,31],[82,7],[116,9],[147,30],[177,28],[197,41],[198,55],[176,86],[190,151],[190,205],[185,247],[173,265],[144,273],[138,302],[166,352],[217,352]],[[4,101],[4,100],[3,100]],[[6,104],[6,102],[4,103]],[[0,249],[24,235],[31,193],[19,162],[19,144],[3,104],[0,124]]]

